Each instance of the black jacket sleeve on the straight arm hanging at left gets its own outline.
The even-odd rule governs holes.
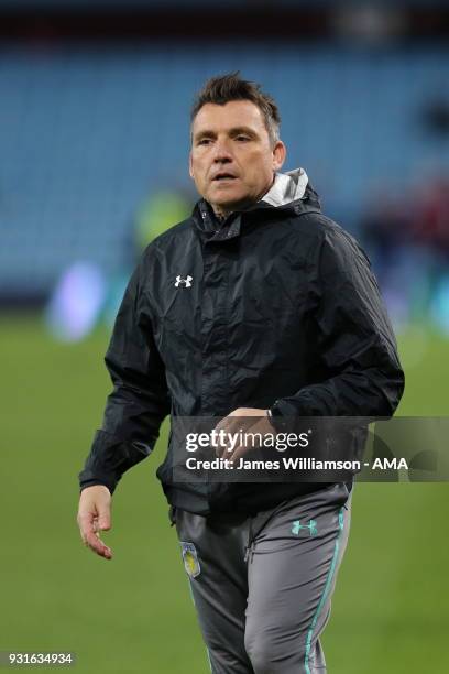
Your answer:
[[[113,391],[79,474],[81,489],[106,485],[112,493],[123,472],[152,452],[169,413],[164,365],[143,311],[141,265],[124,293],[105,358]]]

